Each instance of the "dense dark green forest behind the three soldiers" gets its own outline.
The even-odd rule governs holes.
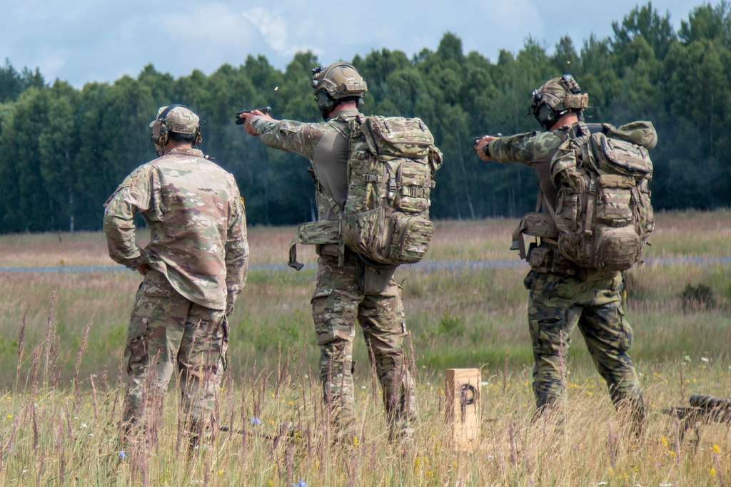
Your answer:
[[[590,121],[653,120],[658,209],[731,204],[731,7],[695,8],[676,31],[652,4],[612,24],[606,39],[555,48],[527,39],[496,60],[464,53],[447,33],[436,51],[414,57],[379,50],[352,63],[368,81],[363,111],[423,118],[444,151],[433,201],[437,218],[514,216],[534,203],[535,177],[515,164],[484,164],[471,152],[477,135],[538,129],[526,115],[543,81],[572,73],[589,93]],[[76,89],[47,83],[38,70],[0,67],[0,232],[99,229],[102,204],[136,166],[154,158],[148,123],[170,102],[208,124],[202,150],[232,172],[250,223],[314,217],[306,161],[262,147],[232,123],[236,111],[269,104],[276,118],[317,120],[310,70],[330,59],[295,55],[282,72],[249,56],[205,75],[177,79],[153,66],[114,83]],[[725,127],[725,128],[724,128]]]

